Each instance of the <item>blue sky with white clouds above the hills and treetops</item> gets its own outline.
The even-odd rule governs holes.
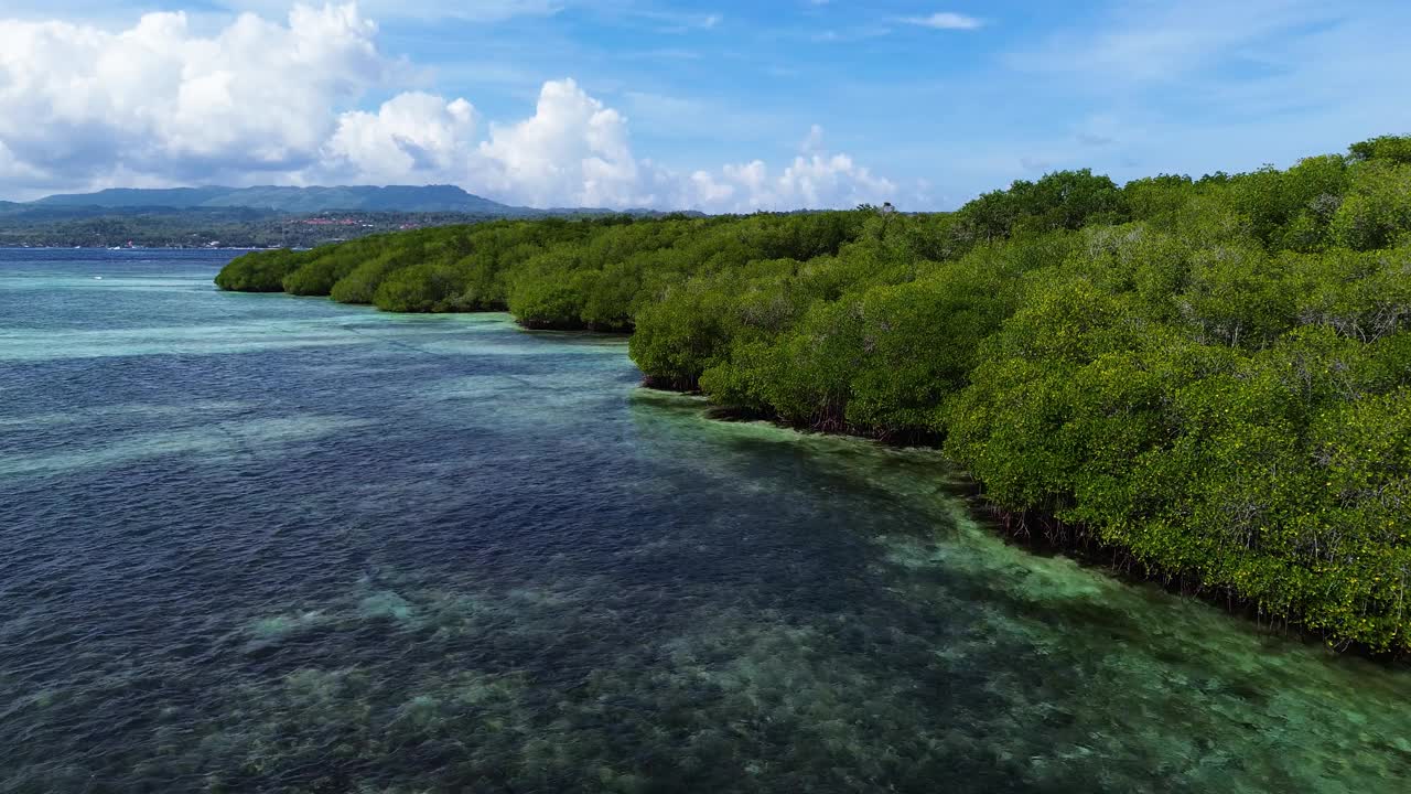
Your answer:
[[[1405,0],[0,0],[0,198],[954,209],[1411,133]]]

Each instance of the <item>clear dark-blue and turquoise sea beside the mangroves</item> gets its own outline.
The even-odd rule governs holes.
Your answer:
[[[0,791],[1407,790],[1411,675],[1006,547],[931,454],[226,259],[0,251]]]

